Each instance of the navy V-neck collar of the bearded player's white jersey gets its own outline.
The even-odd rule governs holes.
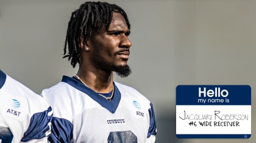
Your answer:
[[[70,78],[68,76],[63,76],[62,82],[66,82],[67,84],[73,86],[74,88],[77,88],[78,90],[84,92],[90,98],[92,98],[94,101],[98,102],[102,107],[106,108],[111,113],[115,113],[116,109],[118,108],[119,102],[121,100],[121,93],[118,90],[118,88],[115,85],[115,82],[113,82],[115,86],[114,96],[112,101],[108,101],[107,99],[100,96],[95,91],[91,90],[91,88],[86,87],[81,82],[77,81],[75,78]]]

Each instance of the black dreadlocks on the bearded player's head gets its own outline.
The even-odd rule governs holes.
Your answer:
[[[108,4],[107,2],[85,2],[80,5],[79,9],[72,13],[68,22],[63,58],[68,58],[73,68],[76,67],[77,62],[80,64],[80,38],[84,36],[83,44],[85,45],[85,42],[90,39],[93,30],[99,32],[99,29],[103,25],[105,26],[105,30],[108,30],[112,21],[113,12],[121,13],[130,29],[126,12],[115,4]],[[68,53],[66,53],[67,48]]]

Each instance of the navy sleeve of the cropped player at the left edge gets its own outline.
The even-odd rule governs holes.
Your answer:
[[[24,133],[22,142],[35,141],[38,142],[41,139],[45,138],[47,141],[47,136],[51,134],[51,119],[52,119],[52,108],[49,107],[48,110],[45,110],[40,113],[35,113],[30,118],[29,127]],[[37,141],[37,139],[39,139]]]

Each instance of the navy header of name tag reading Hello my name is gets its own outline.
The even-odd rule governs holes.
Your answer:
[[[176,105],[251,105],[249,85],[178,85]]]

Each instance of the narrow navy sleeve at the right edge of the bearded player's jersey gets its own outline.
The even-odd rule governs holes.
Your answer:
[[[155,121],[153,104],[151,103],[150,105],[151,105],[151,108],[149,108],[150,123],[149,123],[149,130],[148,130],[148,139],[146,142],[155,142],[155,135],[157,135],[157,124]]]

